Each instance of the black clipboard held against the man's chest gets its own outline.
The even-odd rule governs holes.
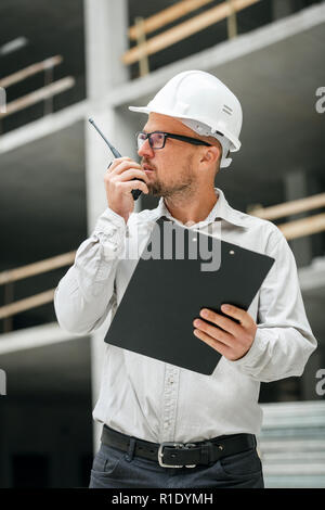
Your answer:
[[[159,227],[160,255],[165,253],[166,245],[164,222],[164,217],[156,222]],[[143,258],[145,250],[148,253],[153,245],[154,229],[104,341],[210,375],[221,355],[193,334],[193,319],[199,316],[204,307],[225,315],[221,311],[224,303],[247,310],[274,258],[178,224],[172,224],[172,229],[174,232],[182,229],[184,234],[183,259],[178,258],[176,243],[169,259],[147,258],[147,255]],[[199,245],[204,242],[207,246],[207,241],[210,252],[218,250],[221,256],[218,270],[202,270],[202,265],[208,262],[200,257]],[[192,243],[197,246],[194,259]]]

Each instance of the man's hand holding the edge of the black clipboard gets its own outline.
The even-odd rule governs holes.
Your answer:
[[[256,335],[257,323],[246,310],[236,306],[222,305],[221,310],[237,319],[239,324],[216,311],[203,308],[199,313],[200,318],[193,321],[193,326],[196,328],[194,334],[225,358],[235,361],[243,358],[250,349]],[[209,324],[204,319],[216,326]]]

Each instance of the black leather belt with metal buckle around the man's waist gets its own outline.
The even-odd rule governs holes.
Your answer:
[[[101,441],[122,451],[130,450],[133,455],[159,462],[162,468],[195,468],[197,464],[210,464],[229,455],[256,448],[253,434],[232,434],[213,437],[196,443],[151,443],[138,439],[107,425],[103,426]],[[132,443],[131,443],[132,442]]]

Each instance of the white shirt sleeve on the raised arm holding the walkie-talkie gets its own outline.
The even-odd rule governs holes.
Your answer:
[[[115,275],[125,246],[125,219],[108,207],[76,252],[75,263],[54,292],[58,324],[88,334],[105,321],[115,299]]]

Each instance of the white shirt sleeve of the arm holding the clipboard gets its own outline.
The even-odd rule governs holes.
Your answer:
[[[253,343],[243,358],[231,361],[261,382],[301,375],[317,345],[306,316],[291,248],[278,229],[273,237],[270,256],[275,262],[260,290]]]

